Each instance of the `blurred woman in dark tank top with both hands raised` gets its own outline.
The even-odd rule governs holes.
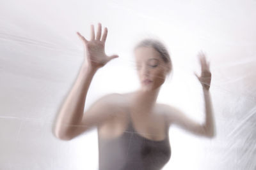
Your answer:
[[[54,134],[57,138],[70,140],[83,132],[97,127],[99,141],[99,169],[161,169],[170,159],[171,148],[168,136],[170,125],[177,124],[194,134],[212,138],[212,117],[209,87],[211,72],[209,63],[201,53],[202,83],[205,99],[205,124],[189,119],[173,106],[156,103],[157,95],[166,76],[172,71],[172,61],[162,43],[145,39],[134,48],[141,88],[127,94],[108,94],[101,97],[84,111],[84,101],[93,75],[118,55],[106,55],[104,45],[108,34],[105,27],[101,37],[98,24],[95,38],[91,25],[88,41],[79,32],[83,41],[84,62],[77,80],[61,106]]]

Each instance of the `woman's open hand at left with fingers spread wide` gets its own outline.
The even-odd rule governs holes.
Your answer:
[[[84,44],[84,64],[93,69],[98,69],[105,66],[111,59],[115,59],[118,55],[108,56],[105,53],[105,42],[108,35],[108,29],[105,27],[104,34],[101,37],[101,24],[98,24],[97,36],[95,39],[94,26],[91,25],[91,39],[88,41],[84,36],[77,32],[79,38]]]

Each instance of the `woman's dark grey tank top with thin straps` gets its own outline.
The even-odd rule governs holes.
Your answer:
[[[171,147],[168,126],[166,138],[153,141],[141,136],[132,127],[117,138],[100,139],[99,170],[160,170],[170,160]]]

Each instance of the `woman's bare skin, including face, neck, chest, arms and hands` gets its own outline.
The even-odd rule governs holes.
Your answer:
[[[204,92],[204,124],[194,122],[173,106],[156,103],[159,90],[164,83],[166,74],[170,71],[170,67],[161,59],[160,54],[154,48],[149,47],[141,47],[134,52],[137,73],[141,83],[140,89],[127,94],[103,96],[84,112],[84,101],[93,75],[111,59],[118,57],[118,55],[107,56],[104,52],[107,34],[108,29],[105,27],[102,39],[100,39],[100,23],[96,38],[94,27],[91,25],[90,41],[77,32],[84,45],[84,62],[56,119],[54,134],[57,138],[74,139],[84,132],[90,131],[93,127],[97,127],[99,138],[117,138],[127,128],[129,117],[131,117],[134,129],[138,134],[154,141],[161,141],[166,138],[166,129],[164,129],[166,124],[167,127],[177,124],[186,131],[199,136],[214,137],[214,118],[212,117],[209,93],[211,72],[204,53],[199,54],[202,75],[195,74],[202,83]]]

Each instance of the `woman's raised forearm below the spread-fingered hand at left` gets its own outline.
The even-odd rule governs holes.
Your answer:
[[[88,67],[86,64],[82,64],[80,67],[76,81],[61,105],[56,119],[54,134],[58,138],[65,138],[68,128],[76,126],[83,118],[84,102],[96,71],[97,69]]]

